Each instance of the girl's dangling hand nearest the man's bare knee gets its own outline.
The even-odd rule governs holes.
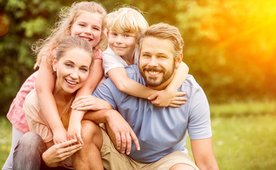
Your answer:
[[[80,122],[70,122],[67,132],[68,140],[78,140],[81,145],[84,145],[81,139],[81,123]]]

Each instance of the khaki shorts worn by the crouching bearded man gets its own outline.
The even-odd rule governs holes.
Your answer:
[[[100,154],[103,160],[103,167],[105,169],[115,169],[115,170],[134,170],[134,169],[170,169],[171,166],[175,164],[188,164],[194,167],[196,170],[199,170],[194,162],[190,159],[188,154],[183,152],[173,152],[171,154],[162,157],[156,162],[151,163],[142,163],[137,162],[134,159],[131,159],[127,154],[121,154],[115,149],[113,142],[111,142],[108,134],[105,130],[102,130],[103,134],[103,146],[100,149]]]

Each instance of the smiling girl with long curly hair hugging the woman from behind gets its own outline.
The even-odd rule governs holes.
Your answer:
[[[35,87],[43,114],[53,131],[54,143],[58,144],[67,141],[67,131],[59,120],[56,103],[52,95],[54,77],[52,76],[50,61],[52,61],[52,56],[56,51],[55,48],[64,38],[76,35],[87,40],[93,47],[95,62],[89,72],[86,84],[78,91],[76,96],[91,94],[103,77],[101,54],[107,42],[103,34],[105,16],[105,9],[96,2],[82,1],[74,3],[71,7],[63,8],[59,13],[59,21],[54,24],[50,36],[43,40],[42,43],[35,45],[34,50],[38,52],[38,60],[35,67],[40,67],[40,69],[25,81],[8,111],[7,118],[13,124],[13,140],[11,152],[3,169],[11,169],[13,149],[21,136],[29,131],[22,106],[25,96]]]

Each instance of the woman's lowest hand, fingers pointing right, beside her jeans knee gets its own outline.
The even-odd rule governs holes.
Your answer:
[[[52,145],[42,154],[45,164],[50,167],[59,166],[59,162],[64,161],[67,157],[81,149],[81,144],[73,145],[77,140],[69,140],[58,145]]]

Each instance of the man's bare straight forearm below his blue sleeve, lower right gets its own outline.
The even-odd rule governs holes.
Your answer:
[[[203,140],[190,140],[192,155],[199,169],[218,170],[219,166],[214,157],[212,137]]]

